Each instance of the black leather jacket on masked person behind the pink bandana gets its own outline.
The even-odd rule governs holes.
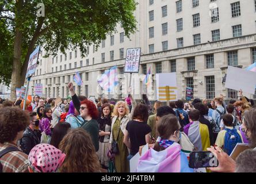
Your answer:
[[[32,131],[32,129],[27,127],[23,133],[20,144],[21,150],[28,155],[35,145],[40,144],[40,138],[38,137],[37,130]]]

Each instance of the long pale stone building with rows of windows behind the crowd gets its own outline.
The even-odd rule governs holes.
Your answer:
[[[151,67],[151,90],[156,90],[156,73],[176,72],[178,98],[185,98],[186,86],[193,87],[198,98],[212,99],[219,94],[226,99],[238,98],[238,92],[226,89],[222,82],[228,66],[246,68],[256,60],[256,0],[137,2],[137,32],[130,39],[118,25],[117,32],[106,36],[98,49],[87,47],[86,57],[77,49],[44,58],[43,50],[29,94],[33,94],[35,83],[42,83],[44,97],[66,98],[70,95],[67,83],[78,71],[83,86],[74,83],[77,94],[123,99],[127,97],[126,49],[140,47],[140,74],[147,74]],[[116,87],[119,93],[108,94],[98,86],[97,77],[112,66],[121,74]],[[141,99],[145,90],[142,81],[142,77],[133,79],[136,99]],[[245,95],[256,99],[256,91]],[[156,91],[149,98],[155,100]]]

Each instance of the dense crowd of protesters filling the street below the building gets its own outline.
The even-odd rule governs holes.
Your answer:
[[[188,153],[211,151],[219,166],[212,172],[256,172],[256,109],[243,96],[226,104],[214,99],[168,106],[151,104],[144,95],[137,103],[129,89],[124,101],[106,98],[95,102],[77,96],[57,104],[54,98],[35,95],[15,102],[0,99],[0,172],[129,172],[129,160],[145,145],[137,172],[186,172]],[[250,143],[233,160],[237,143]],[[50,160],[50,161],[48,161]]]

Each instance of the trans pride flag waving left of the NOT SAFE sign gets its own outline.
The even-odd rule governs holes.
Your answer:
[[[114,86],[118,85],[119,82],[117,78],[117,67],[114,66],[109,70],[105,71],[105,73],[101,75],[100,79],[98,79],[97,82],[105,91],[112,91],[114,89]]]

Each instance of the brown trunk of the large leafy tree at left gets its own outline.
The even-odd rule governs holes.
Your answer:
[[[16,99],[16,88],[22,86],[21,81],[21,43],[22,32],[17,28],[14,37],[14,58],[13,58],[13,71],[11,83],[11,100]]]

